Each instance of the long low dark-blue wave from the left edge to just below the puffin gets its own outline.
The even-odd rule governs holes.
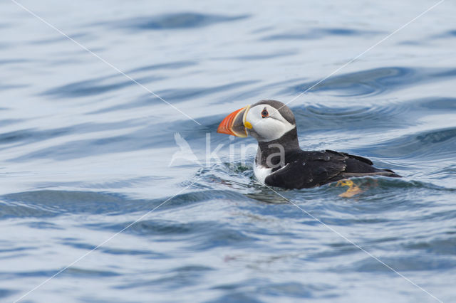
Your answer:
[[[124,184],[125,186],[125,184]],[[217,198],[241,199],[242,193],[214,189],[199,189],[173,196],[160,206],[160,211],[190,206]],[[120,194],[92,191],[25,191],[0,197],[0,214],[4,218],[61,216],[68,213],[118,215],[150,211],[168,197],[152,200],[128,198]],[[43,226],[45,227],[45,226]]]

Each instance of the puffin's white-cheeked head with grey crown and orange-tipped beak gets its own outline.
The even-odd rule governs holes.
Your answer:
[[[259,142],[279,139],[296,128],[293,112],[276,100],[261,100],[229,114],[217,132],[237,137],[251,135]]]

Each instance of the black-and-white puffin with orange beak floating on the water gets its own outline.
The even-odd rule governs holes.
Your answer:
[[[267,186],[311,188],[353,177],[400,177],[390,169],[376,168],[362,156],[329,149],[302,150],[293,112],[276,100],[261,100],[232,112],[217,132],[257,139],[254,176]]]

